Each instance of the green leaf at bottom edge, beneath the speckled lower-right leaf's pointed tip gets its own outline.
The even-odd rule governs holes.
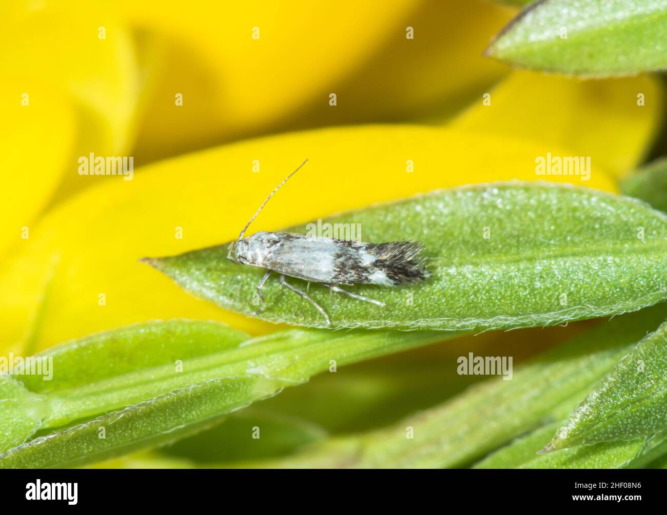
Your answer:
[[[518,438],[475,468],[634,468],[650,445],[650,438],[635,438],[629,442],[602,442],[537,454],[556,428],[558,424],[549,424]]]

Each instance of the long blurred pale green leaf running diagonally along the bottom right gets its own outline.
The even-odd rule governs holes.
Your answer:
[[[272,467],[442,468],[467,466],[512,438],[563,420],[590,388],[665,318],[663,304],[612,318],[514,370],[381,430],[333,438]],[[413,438],[406,438],[412,428]],[[548,436],[542,440],[542,445]],[[534,449],[534,451],[538,448]]]

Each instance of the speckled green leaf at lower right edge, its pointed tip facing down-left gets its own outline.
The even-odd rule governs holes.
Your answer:
[[[593,388],[544,449],[630,440],[667,429],[667,322]]]

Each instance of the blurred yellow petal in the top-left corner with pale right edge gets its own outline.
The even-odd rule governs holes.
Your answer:
[[[137,65],[131,36],[111,9],[85,0],[16,0],[0,4],[0,19],[0,79],[39,81],[69,93],[79,110],[79,155],[123,153],[131,139]],[[65,191],[83,184],[75,160],[67,172]]]

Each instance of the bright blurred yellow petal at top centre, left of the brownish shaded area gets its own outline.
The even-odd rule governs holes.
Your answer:
[[[142,144],[201,147],[202,138],[265,130],[354,70],[390,31],[403,37],[399,22],[413,4],[342,0],[332,7],[298,0],[207,2],[201,8],[177,0],[123,0],[129,23],[167,44],[165,75],[146,115]]]

